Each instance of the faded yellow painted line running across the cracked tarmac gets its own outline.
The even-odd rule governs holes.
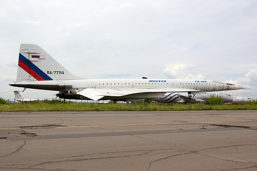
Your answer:
[[[235,122],[257,122],[251,121],[215,121],[215,122],[185,122],[185,123],[166,123],[166,124],[127,124],[127,125],[88,125],[88,126],[62,126],[55,128],[83,128],[83,127],[121,127],[121,126],[149,126],[149,125],[178,125],[178,124],[209,124],[209,123],[235,123]],[[0,130],[19,130],[25,128],[0,128]]]

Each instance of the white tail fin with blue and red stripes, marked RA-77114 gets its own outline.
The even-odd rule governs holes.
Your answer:
[[[77,80],[83,79],[72,75],[52,56],[35,44],[21,44],[17,80]]]

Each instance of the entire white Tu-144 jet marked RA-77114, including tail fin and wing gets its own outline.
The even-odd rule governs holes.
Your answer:
[[[197,93],[244,89],[230,83],[196,79],[84,79],[72,75],[35,44],[21,44],[17,80],[9,85],[59,91],[56,95],[65,99],[114,101],[160,98],[167,92],[187,92],[191,98]]]

